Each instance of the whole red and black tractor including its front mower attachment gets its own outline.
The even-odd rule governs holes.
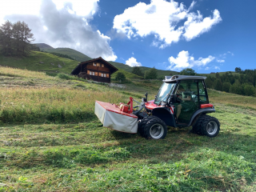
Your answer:
[[[206,115],[215,112],[209,104],[206,77],[166,76],[158,94],[152,101],[142,98],[133,107],[133,98],[127,104],[95,103],[95,114],[103,126],[126,133],[139,133],[142,137],[165,138],[167,126],[188,127],[191,132],[214,138],[220,124],[217,118]]]

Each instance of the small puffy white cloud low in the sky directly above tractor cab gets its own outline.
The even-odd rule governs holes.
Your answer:
[[[169,70],[182,70],[184,68],[192,68],[194,66],[206,66],[209,62],[212,62],[214,57],[209,55],[207,58],[198,58],[194,60],[194,57],[190,56],[188,51],[182,50],[178,53],[177,58],[170,57],[170,66],[167,67]]]

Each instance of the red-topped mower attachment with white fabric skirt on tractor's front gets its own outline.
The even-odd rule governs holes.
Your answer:
[[[129,104],[132,103],[129,102]],[[132,108],[132,105],[130,106]],[[131,111],[128,109],[126,110],[127,112],[122,110],[124,110],[124,107],[120,110],[119,106],[109,102],[95,102],[94,113],[103,126],[121,132],[136,134],[138,130],[138,117],[131,114]]]

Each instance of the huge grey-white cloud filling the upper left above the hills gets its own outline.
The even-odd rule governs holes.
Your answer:
[[[0,22],[24,21],[32,29],[35,42],[115,61],[110,37],[90,26],[97,10],[98,0],[10,0],[0,6]]]

